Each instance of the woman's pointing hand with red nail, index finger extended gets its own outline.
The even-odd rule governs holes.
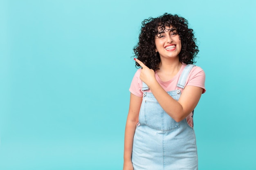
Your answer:
[[[141,81],[146,83],[146,85],[148,85],[148,87],[150,87],[151,84],[156,82],[155,71],[153,69],[148,68],[143,62],[139,61],[137,58],[134,60],[142,68],[139,78],[141,79]]]

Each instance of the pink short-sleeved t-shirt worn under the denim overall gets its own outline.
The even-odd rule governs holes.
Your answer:
[[[180,90],[181,92],[183,91],[182,88],[177,87],[177,83],[178,80],[180,78],[180,75],[182,73],[182,71],[184,70],[186,65],[182,65],[180,68],[180,71],[177,73],[177,75],[175,75],[171,80],[167,81],[167,82],[163,82],[157,75],[157,72],[155,72],[155,78],[157,79],[157,82],[162,86],[162,88],[164,88],[165,91],[173,91],[173,90]],[[143,96],[143,92],[141,90],[142,88],[142,81],[139,78],[141,73],[141,68],[137,70],[137,72],[135,73],[133,79],[132,79],[132,83],[130,85],[130,89],[129,91],[133,94],[136,95],[138,97],[142,97]],[[192,68],[192,70],[190,71],[185,86],[197,86],[203,89],[202,93],[205,93],[206,89],[204,86],[204,82],[205,82],[205,73],[202,70],[202,68],[198,67],[198,66],[194,66]],[[150,89],[148,90],[148,92],[151,92]],[[189,126],[193,127],[193,113],[190,113],[188,117],[186,117]]]

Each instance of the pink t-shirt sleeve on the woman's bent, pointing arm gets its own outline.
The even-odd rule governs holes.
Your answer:
[[[203,89],[202,93],[206,92],[205,89],[205,73],[201,67],[194,66],[189,73],[189,79],[186,86],[197,86]]]

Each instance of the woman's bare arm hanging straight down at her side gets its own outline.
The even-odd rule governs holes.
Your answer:
[[[142,102],[142,97],[137,97],[130,94],[130,106],[126,121],[125,136],[124,136],[124,170],[133,170],[132,167],[132,143],[136,129],[136,124],[139,121],[139,110]]]

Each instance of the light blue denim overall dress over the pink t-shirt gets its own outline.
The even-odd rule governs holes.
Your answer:
[[[184,88],[194,65],[188,64],[180,75],[177,87]],[[159,105],[143,82],[143,100],[132,147],[134,170],[198,170],[195,133],[186,118],[172,119]],[[167,92],[178,100],[181,91]]]

